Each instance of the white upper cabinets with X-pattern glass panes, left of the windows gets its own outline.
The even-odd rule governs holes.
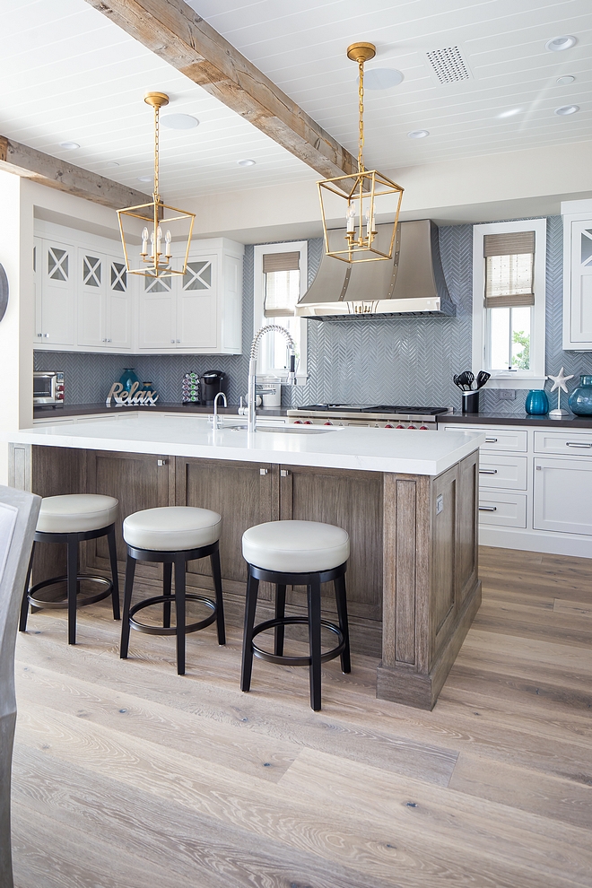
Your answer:
[[[187,274],[126,274],[118,244],[39,223],[35,239],[35,347],[111,353],[239,354],[244,247],[194,241]],[[69,241],[69,242],[68,242]]]

